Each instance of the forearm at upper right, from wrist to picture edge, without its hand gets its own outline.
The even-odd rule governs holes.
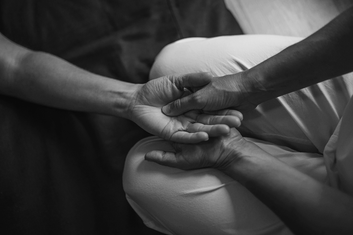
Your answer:
[[[266,101],[353,71],[353,7],[268,60],[249,69],[252,95]],[[261,103],[260,102],[260,103]]]

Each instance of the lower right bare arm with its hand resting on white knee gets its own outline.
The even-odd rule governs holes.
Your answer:
[[[288,166],[233,129],[227,137],[174,144],[145,159],[181,169],[214,167],[248,188],[295,234],[353,234],[353,197]]]

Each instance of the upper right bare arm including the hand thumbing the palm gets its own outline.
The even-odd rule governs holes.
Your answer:
[[[191,109],[254,109],[264,101],[353,71],[353,6],[322,29],[257,66],[215,77],[163,107],[169,116]]]

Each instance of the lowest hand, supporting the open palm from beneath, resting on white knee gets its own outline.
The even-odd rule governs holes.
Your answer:
[[[146,153],[145,160],[183,170],[203,167],[224,170],[253,147],[235,128],[227,136],[214,137],[198,144],[173,143],[173,146],[175,153],[153,150]]]

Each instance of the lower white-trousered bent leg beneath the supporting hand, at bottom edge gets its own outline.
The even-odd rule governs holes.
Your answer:
[[[292,234],[237,181],[213,168],[183,171],[144,160],[154,149],[172,151],[149,137],[127,156],[126,198],[144,223],[165,234]]]

